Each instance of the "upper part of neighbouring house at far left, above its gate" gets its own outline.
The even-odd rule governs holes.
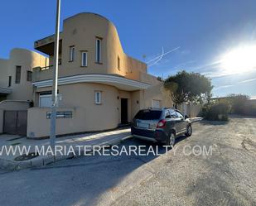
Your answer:
[[[48,58],[31,50],[15,48],[9,59],[0,59],[0,100],[33,99],[32,69],[49,64]]]

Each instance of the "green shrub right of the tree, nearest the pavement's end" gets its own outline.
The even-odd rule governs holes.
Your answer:
[[[229,110],[230,107],[228,103],[213,103],[206,105],[202,113],[205,119],[208,120],[227,121],[229,120]]]

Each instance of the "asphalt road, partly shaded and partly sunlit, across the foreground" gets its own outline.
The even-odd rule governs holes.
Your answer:
[[[96,155],[0,170],[0,205],[256,205],[256,118],[197,122],[193,130],[167,153],[134,139],[119,145],[154,146],[159,156]]]

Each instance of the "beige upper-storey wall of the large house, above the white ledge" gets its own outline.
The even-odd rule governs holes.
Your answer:
[[[95,63],[96,37],[102,38],[102,64]],[[118,31],[112,22],[94,13],[80,13],[67,18],[63,24],[62,53],[59,76],[76,74],[120,74],[147,72],[147,65],[123,52]],[[75,46],[75,60],[70,62],[70,46]],[[88,66],[81,67],[81,51],[88,54]],[[118,69],[118,57],[120,69]],[[50,56],[52,62],[52,56]],[[35,81],[49,79],[52,69],[37,70]]]

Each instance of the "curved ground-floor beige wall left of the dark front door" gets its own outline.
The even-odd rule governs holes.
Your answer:
[[[37,89],[36,92],[49,90],[51,88]],[[100,105],[94,103],[95,91],[102,92]],[[72,108],[74,111],[72,119],[57,120],[57,134],[59,135],[118,127],[121,111],[120,99],[130,97],[129,93],[104,84],[61,85],[59,86],[59,93],[62,96],[59,109]],[[38,94],[36,98],[38,98]],[[130,103],[128,103],[128,109],[131,109]],[[50,120],[46,119],[46,111],[51,111],[51,108],[30,108],[28,110],[28,137],[31,136],[31,132],[34,133],[35,137],[49,136]],[[129,116],[129,118],[131,117]]]

